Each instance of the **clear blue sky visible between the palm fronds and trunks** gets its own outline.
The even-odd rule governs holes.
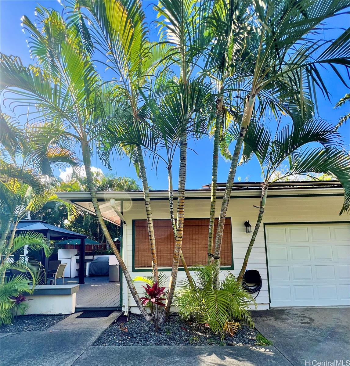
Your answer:
[[[152,8],[152,4],[156,1],[144,1],[144,8],[146,12],[147,21],[150,24],[155,19],[155,13]],[[34,19],[34,9],[37,4],[41,4],[45,7],[52,7],[55,10],[62,11],[62,6],[58,1],[44,0],[1,0],[0,1],[0,51],[6,55],[19,56],[22,59],[24,65],[33,62],[30,60],[29,48],[26,43],[26,35],[22,31],[21,16],[27,15],[30,19]],[[349,26],[349,15],[341,15],[324,26],[323,32],[328,34],[327,38],[335,38],[340,34],[339,27],[346,28]],[[155,25],[150,25],[150,39],[157,39],[157,30]],[[343,97],[349,90],[335,78],[334,73],[324,71],[323,73],[328,87],[331,93],[331,102],[324,100],[319,93],[319,112],[320,117],[328,120],[329,122],[336,123],[340,116],[347,113],[349,105],[346,105],[342,109],[334,109],[334,104]],[[103,72],[101,72],[103,77]],[[3,106],[2,106],[3,108]],[[271,129],[273,130],[274,122],[270,122]],[[344,137],[344,146],[349,150],[350,146],[350,123],[339,129],[340,134]],[[189,141],[189,147],[187,157],[187,189],[200,188],[202,185],[207,184],[211,180],[211,161],[212,161],[212,142],[208,138],[201,139],[200,141]],[[194,151],[192,151],[194,150]],[[173,179],[174,188],[176,187],[177,172],[178,172],[178,156],[175,157],[173,164]],[[105,168],[99,161],[95,154],[92,158],[92,164],[101,168],[104,173],[108,173],[108,169]],[[222,158],[219,161],[218,170],[218,182],[226,182],[228,174],[229,164]],[[58,175],[58,171],[55,172]],[[117,175],[126,175],[137,179],[134,168],[129,165],[128,159],[117,160],[113,163],[112,173]],[[242,181],[248,180],[250,182],[260,181],[260,167],[255,160],[250,161],[248,164],[238,167],[236,174],[236,181],[240,178]],[[153,189],[167,189],[167,171],[165,165],[159,164],[157,171],[148,169],[148,182]]]

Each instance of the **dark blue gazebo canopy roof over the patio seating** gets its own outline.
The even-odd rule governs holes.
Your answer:
[[[50,240],[83,239],[86,235],[79,234],[64,228],[59,228],[42,220],[21,220],[17,225],[16,232],[34,231],[40,232]]]

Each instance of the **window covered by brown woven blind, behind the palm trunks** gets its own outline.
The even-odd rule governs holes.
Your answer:
[[[215,219],[216,233],[218,219]],[[153,220],[156,237],[157,260],[159,267],[171,267],[174,253],[174,234],[170,220]],[[185,219],[183,228],[182,252],[188,266],[208,261],[209,219]],[[214,236],[215,238],[215,236]],[[146,220],[134,221],[134,266],[135,268],[151,267],[148,228]],[[232,232],[231,219],[225,220],[223,242],[221,245],[221,266],[232,264]],[[180,266],[182,266],[180,261]]]

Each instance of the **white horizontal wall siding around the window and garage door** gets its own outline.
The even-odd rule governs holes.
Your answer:
[[[276,194],[276,193],[273,193]],[[264,214],[264,223],[293,223],[293,222],[328,222],[328,221],[347,221],[348,214],[339,216],[339,211],[343,204],[341,196],[325,196],[325,197],[270,197],[267,199],[267,205]],[[174,201],[176,203],[176,201]],[[241,269],[243,258],[251,234],[245,232],[243,223],[249,220],[254,229],[256,223],[258,209],[253,205],[258,206],[260,198],[231,198],[227,212],[227,217],[231,217],[232,223],[232,242],[233,242],[233,258],[234,270],[230,270],[235,276],[238,276]],[[152,201],[153,219],[168,219],[169,205],[167,200]],[[176,204],[175,204],[176,207]],[[219,217],[221,208],[221,199],[217,202],[216,216]],[[187,199],[185,201],[185,218],[208,218],[210,209],[210,199]],[[131,202],[130,208],[124,210],[123,215],[126,219],[126,225],[123,225],[123,250],[124,256],[127,256],[127,267],[131,276],[149,276],[150,270],[144,272],[133,272],[133,224],[132,220],[146,219],[145,204],[142,201]],[[124,257],[125,258],[125,257]],[[269,293],[267,282],[267,267],[265,254],[265,239],[263,224],[258,232],[256,242],[248,262],[248,269],[257,269],[261,274],[263,286],[256,301],[258,309],[268,309]],[[170,272],[165,272],[170,275]],[[221,274],[221,279],[224,279],[225,271]],[[178,283],[186,279],[185,272],[179,271]],[[142,283],[136,282],[135,286],[142,294]],[[125,280],[123,281],[123,305],[124,310],[129,306],[131,311],[137,312],[135,302],[130,292],[128,291]]]

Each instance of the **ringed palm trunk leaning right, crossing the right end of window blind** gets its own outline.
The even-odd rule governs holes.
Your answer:
[[[241,152],[243,139],[247,132],[250,119],[252,118],[253,109],[254,109],[254,101],[255,94],[248,94],[245,101],[241,128],[239,130],[239,137],[236,141],[236,146],[232,155],[230,171],[228,172],[228,178],[225,188],[224,197],[221,203],[221,210],[219,216],[219,223],[217,225],[216,237],[215,237],[215,250],[214,250],[214,287],[219,290],[219,273],[220,273],[220,251],[221,251],[221,243],[222,236],[224,234],[224,225],[226,219],[226,213],[228,208],[228,203],[230,202],[230,196],[233,187],[233,181],[235,179],[236,169],[238,165],[238,158]]]

